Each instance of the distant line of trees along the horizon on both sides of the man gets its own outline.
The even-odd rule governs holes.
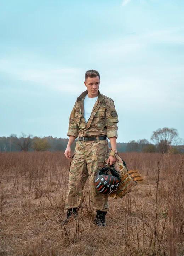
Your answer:
[[[75,144],[72,150],[75,149]],[[117,143],[117,152],[167,152],[184,153],[182,140],[179,138],[178,131],[174,128],[164,127],[157,129],[151,135],[149,142],[147,139],[131,140],[128,143]],[[57,138],[52,136],[33,137],[23,132],[19,137],[11,134],[9,137],[0,137],[0,152],[19,152],[19,151],[65,151],[68,144],[68,138]],[[110,144],[109,144],[110,146]]]

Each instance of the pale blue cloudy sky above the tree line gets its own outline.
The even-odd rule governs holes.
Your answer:
[[[7,0],[0,4],[0,136],[67,137],[84,73],[113,98],[118,142],[184,139],[184,1]]]

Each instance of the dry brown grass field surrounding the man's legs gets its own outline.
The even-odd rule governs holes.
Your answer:
[[[120,155],[144,181],[109,197],[107,227],[98,227],[88,183],[79,217],[63,225],[63,153],[0,153],[0,255],[184,255],[183,155]]]

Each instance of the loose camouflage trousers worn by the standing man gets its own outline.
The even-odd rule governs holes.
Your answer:
[[[69,172],[69,191],[65,201],[66,208],[81,207],[84,202],[83,188],[89,177],[90,195],[94,210],[108,211],[108,196],[98,192],[95,177],[108,159],[107,140],[77,141],[71,159]]]

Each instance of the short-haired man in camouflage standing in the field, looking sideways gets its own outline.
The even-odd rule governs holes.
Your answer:
[[[96,70],[85,73],[85,86],[83,92],[76,100],[69,118],[67,135],[69,141],[65,156],[71,159],[69,172],[69,191],[65,202],[68,220],[77,217],[78,208],[82,206],[82,189],[87,178],[90,180],[90,194],[94,210],[97,211],[95,223],[105,226],[105,215],[109,210],[108,196],[99,193],[95,186],[95,177],[105,165],[105,161],[112,165],[115,163],[118,117],[114,101],[99,92],[100,74]],[[79,137],[78,137],[79,136]],[[71,145],[78,137],[74,155],[71,157]],[[108,153],[110,139],[112,151]],[[108,158],[109,156],[109,158]]]

